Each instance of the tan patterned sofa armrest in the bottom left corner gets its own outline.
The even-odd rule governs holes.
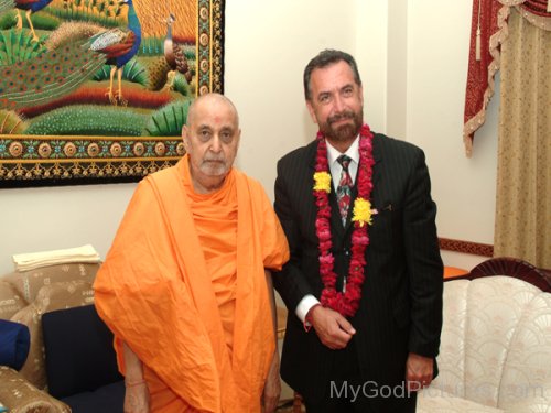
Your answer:
[[[10,413],[71,413],[66,404],[36,389],[6,366],[0,366],[0,402]]]

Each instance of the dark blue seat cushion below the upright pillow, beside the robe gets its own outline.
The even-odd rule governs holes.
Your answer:
[[[62,399],[73,413],[122,413],[125,382],[104,385],[93,392],[84,392]]]

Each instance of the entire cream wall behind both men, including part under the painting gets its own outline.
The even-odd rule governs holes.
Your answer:
[[[371,128],[425,150],[440,235],[491,243],[497,99],[473,159],[461,141],[469,14],[467,1],[226,1],[225,89],[241,115],[238,166],[272,196],[277,160],[315,133],[303,67],[322,48],[343,48],[360,66]],[[134,186],[0,189],[0,273],[20,252],[91,243],[105,257]],[[482,260],[443,256],[465,268]]]

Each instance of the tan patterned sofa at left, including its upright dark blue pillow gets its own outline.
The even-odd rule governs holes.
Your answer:
[[[21,370],[0,366],[0,403],[10,413],[107,413],[95,401],[112,398],[122,411],[112,335],[94,307],[98,269],[68,263],[0,276],[0,318],[28,326],[31,336]]]

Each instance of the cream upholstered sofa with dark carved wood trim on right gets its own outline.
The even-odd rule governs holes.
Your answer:
[[[549,272],[498,258],[446,281],[437,362],[420,413],[551,413]]]

